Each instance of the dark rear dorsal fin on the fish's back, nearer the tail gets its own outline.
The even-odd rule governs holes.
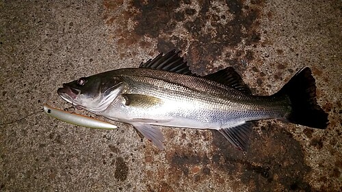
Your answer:
[[[229,87],[239,90],[240,92],[244,92],[245,94],[252,94],[252,92],[250,92],[250,88],[244,83],[240,75],[232,67],[224,68],[212,74],[207,74],[204,78],[228,85]]]

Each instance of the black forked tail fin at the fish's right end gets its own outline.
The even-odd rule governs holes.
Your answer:
[[[302,68],[276,93],[286,94],[291,101],[291,113],[287,120],[312,128],[326,128],[328,113],[317,104],[315,79],[310,68]]]

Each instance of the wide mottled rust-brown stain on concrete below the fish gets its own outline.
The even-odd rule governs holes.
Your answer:
[[[211,131],[212,145],[207,151],[194,152],[192,148],[185,149],[176,146],[177,143],[172,144],[174,148],[167,150],[165,156],[168,166],[159,166],[155,173],[148,172],[148,177],[154,176],[156,181],[163,180],[172,185],[155,182],[150,185],[150,189],[171,190],[182,187],[174,180],[186,182],[189,187],[189,182],[202,183],[213,179],[216,183],[222,184],[229,181],[234,189],[248,185],[250,191],[310,191],[311,186],[304,178],[311,172],[311,168],[304,162],[300,143],[277,123],[259,123],[261,135],[252,133],[250,148],[246,153],[233,148],[217,131]],[[312,137],[310,130],[304,133]],[[322,142],[319,138],[311,140],[314,146],[321,147]],[[150,153],[146,151],[146,154]],[[338,174],[335,170],[334,176]],[[237,177],[239,182],[233,182]]]

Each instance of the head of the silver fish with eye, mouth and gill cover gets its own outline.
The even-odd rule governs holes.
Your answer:
[[[67,102],[96,113],[107,109],[123,87],[120,77],[104,73],[64,83],[57,93]]]

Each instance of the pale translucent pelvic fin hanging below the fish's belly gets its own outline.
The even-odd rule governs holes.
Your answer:
[[[159,150],[163,150],[163,141],[164,136],[161,133],[160,129],[157,126],[152,126],[149,124],[133,124],[133,126],[146,137],[146,139],[150,140],[159,148]]]

